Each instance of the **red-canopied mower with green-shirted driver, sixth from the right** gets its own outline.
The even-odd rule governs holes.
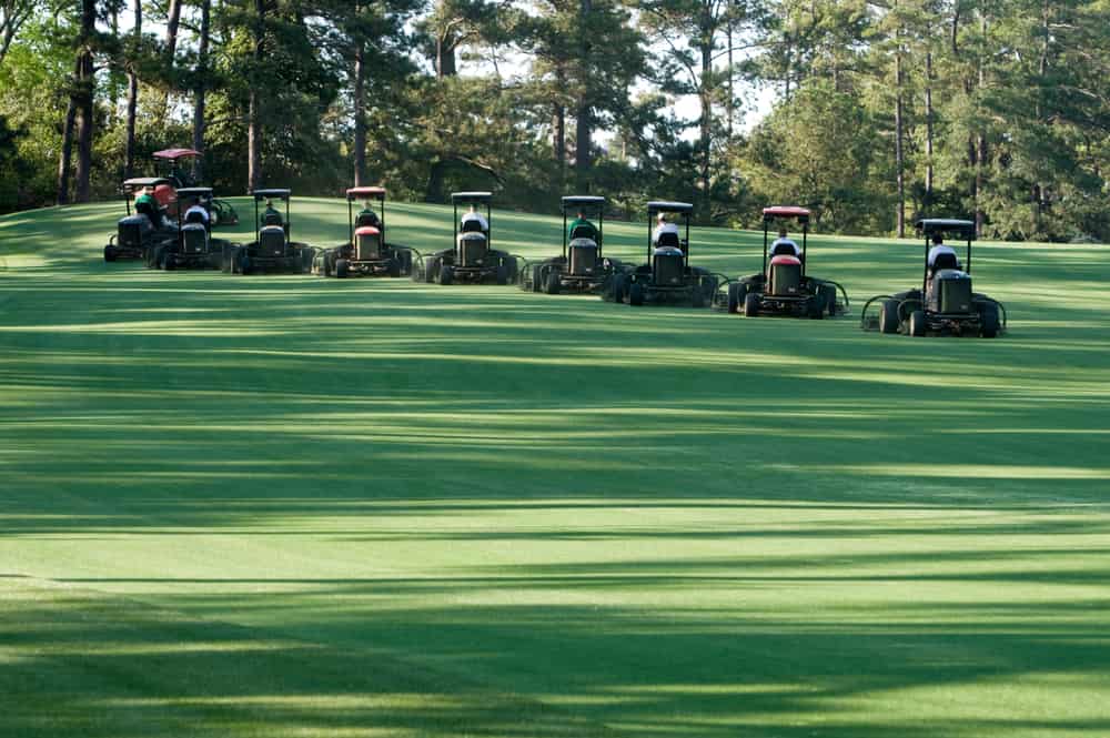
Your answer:
[[[355,200],[366,206],[357,216]],[[385,241],[385,189],[351,188],[346,191],[347,230],[350,240],[342,246],[321,250],[312,271],[324,276],[410,276],[413,272],[413,250]],[[380,213],[373,211],[377,202]]]

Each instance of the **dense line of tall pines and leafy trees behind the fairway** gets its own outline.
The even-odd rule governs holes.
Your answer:
[[[1108,79],[1110,0],[0,0],[0,211],[111,196],[191,145],[224,193],[1107,240]]]

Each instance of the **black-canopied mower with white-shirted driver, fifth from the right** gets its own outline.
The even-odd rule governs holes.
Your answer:
[[[492,249],[490,225],[492,213],[491,192],[453,192],[451,204],[454,210],[454,246],[436,251],[426,256],[417,256],[420,266],[413,271],[417,282],[453,284],[508,284],[516,281],[517,259],[513,254]],[[486,228],[477,219],[460,223],[458,208],[473,205],[476,210],[485,205]]]

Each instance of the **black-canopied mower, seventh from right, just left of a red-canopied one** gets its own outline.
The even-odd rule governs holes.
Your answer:
[[[252,243],[224,244],[221,266],[231,274],[284,273],[306,274],[312,271],[316,250],[306,243],[290,241],[289,202],[292,193],[285,189],[255,190],[254,223],[258,240]],[[272,201],[285,203],[285,216],[272,209]],[[259,203],[265,201],[266,212],[259,212]]]

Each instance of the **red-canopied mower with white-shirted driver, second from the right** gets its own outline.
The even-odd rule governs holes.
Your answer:
[[[729,282],[717,295],[718,307],[746,317],[783,315],[820,320],[842,315],[848,310],[848,295],[839,283],[819,280],[806,273],[809,256],[809,211],[793,205],[764,208],[763,271]],[[771,244],[771,224],[795,220],[801,225],[801,253],[788,243]],[[837,296],[839,289],[844,302]]]

